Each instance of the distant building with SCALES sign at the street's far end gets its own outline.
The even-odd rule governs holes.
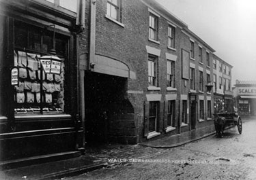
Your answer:
[[[236,80],[233,95],[241,115],[256,115],[256,81]]]

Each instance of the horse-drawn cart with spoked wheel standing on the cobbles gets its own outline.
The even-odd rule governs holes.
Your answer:
[[[216,113],[214,120],[216,135],[223,136],[223,131],[227,126],[238,126],[239,134],[242,134],[242,119],[236,112]]]

